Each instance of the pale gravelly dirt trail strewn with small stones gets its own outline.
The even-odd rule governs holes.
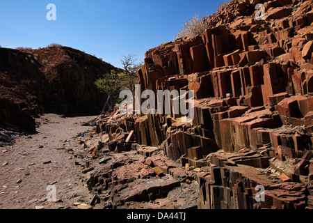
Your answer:
[[[93,118],[45,114],[36,119],[40,123],[38,134],[19,137],[14,146],[1,147],[0,208],[75,208],[74,202],[89,203],[91,195],[74,164],[74,155],[65,150],[78,147],[73,137],[92,130],[81,123]],[[56,198],[63,202],[40,202],[47,197],[47,186],[51,184],[56,186]]]

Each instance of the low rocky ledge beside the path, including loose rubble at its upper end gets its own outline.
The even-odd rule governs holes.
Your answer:
[[[197,207],[193,171],[164,156],[159,148],[131,141],[133,149],[120,151],[127,147],[118,144],[112,151],[112,145],[106,143],[108,136],[95,132],[78,139],[77,144],[85,149],[76,151],[74,162],[102,208]]]

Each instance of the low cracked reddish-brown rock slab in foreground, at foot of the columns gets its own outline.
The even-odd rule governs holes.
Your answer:
[[[99,158],[90,160],[93,169],[85,178],[88,189],[97,194],[102,203],[106,203],[104,207],[127,208],[129,205],[136,207],[136,203],[137,205],[145,203],[147,207],[149,202],[154,203],[154,206],[163,202],[166,202],[164,206],[167,207],[179,206],[179,204],[186,208],[197,206],[195,184],[186,183],[186,180],[193,178],[191,171],[184,171],[172,160],[157,154],[145,157],[136,151],[122,154],[102,152],[106,153],[104,157],[99,155],[98,151]],[[161,173],[155,169],[159,169]],[[185,191],[189,194],[186,195],[182,190],[178,190],[179,187],[190,188]],[[166,197],[171,196],[169,192],[179,195],[182,203],[168,202]],[[189,201],[188,196],[193,196],[193,201]]]

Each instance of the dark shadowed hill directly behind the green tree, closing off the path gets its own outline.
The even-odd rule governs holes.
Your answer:
[[[67,114],[99,114],[106,97],[96,88],[95,81],[111,70],[121,70],[70,47],[36,49],[32,54],[37,56],[40,69],[54,89],[50,107]]]

